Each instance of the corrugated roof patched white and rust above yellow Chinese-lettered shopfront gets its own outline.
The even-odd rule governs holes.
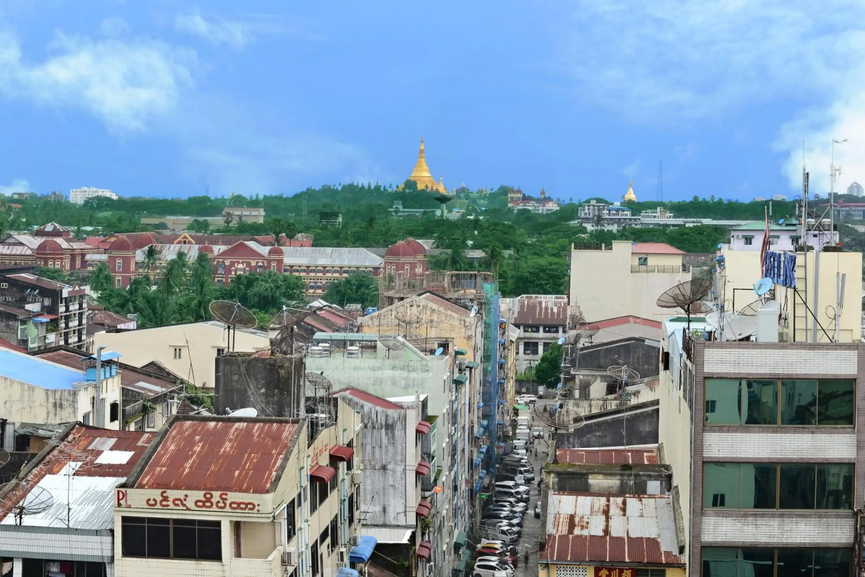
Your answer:
[[[544,561],[683,566],[670,497],[552,491]]]

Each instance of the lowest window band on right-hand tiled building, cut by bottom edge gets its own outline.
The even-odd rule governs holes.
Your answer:
[[[852,574],[851,549],[702,548],[705,577],[835,577]],[[639,569],[638,573],[639,575]]]

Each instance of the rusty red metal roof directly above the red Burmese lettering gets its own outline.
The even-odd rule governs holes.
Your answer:
[[[285,421],[176,420],[135,486],[267,493],[297,433]]]

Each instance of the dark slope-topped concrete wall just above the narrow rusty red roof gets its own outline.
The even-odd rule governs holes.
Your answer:
[[[556,446],[599,447],[653,445],[657,443],[658,407],[638,412],[617,412],[589,420],[579,429],[558,433]]]

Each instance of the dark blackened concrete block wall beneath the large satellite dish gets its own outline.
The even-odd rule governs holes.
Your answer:
[[[298,417],[304,406],[300,356],[216,357],[216,413],[255,407],[262,416]]]

